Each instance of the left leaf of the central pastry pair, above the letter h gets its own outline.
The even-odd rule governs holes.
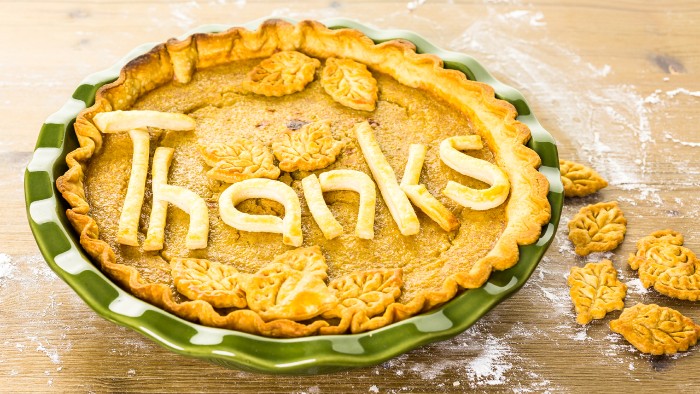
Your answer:
[[[258,141],[239,138],[228,144],[200,144],[199,152],[212,167],[207,176],[217,181],[236,183],[252,178],[277,179],[280,175],[272,153]]]

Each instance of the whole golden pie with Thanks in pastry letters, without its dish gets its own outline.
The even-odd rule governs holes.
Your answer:
[[[269,337],[358,333],[539,238],[549,185],[516,116],[409,42],[269,20],[129,62],[56,183],[84,250],[141,299]]]

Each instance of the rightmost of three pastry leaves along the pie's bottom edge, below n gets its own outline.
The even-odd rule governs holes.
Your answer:
[[[325,327],[326,334],[343,333],[350,328],[353,333],[371,330],[378,326],[372,318],[383,314],[387,307],[401,295],[400,269],[356,272],[334,279],[328,285],[335,290],[338,305],[325,312],[326,319],[339,318],[337,326]]]

